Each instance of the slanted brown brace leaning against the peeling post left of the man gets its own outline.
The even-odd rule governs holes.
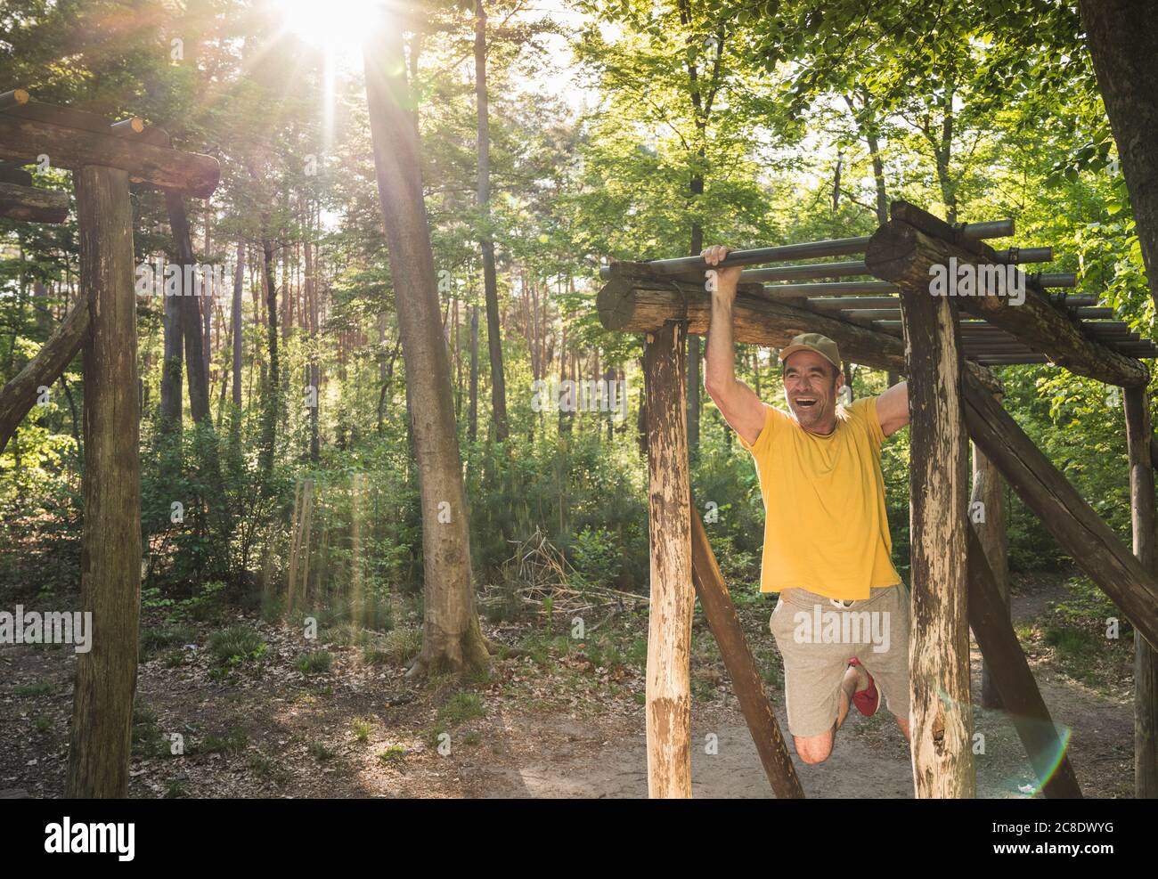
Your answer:
[[[752,740],[756,744],[760,762],[764,766],[768,781],[779,799],[802,799],[804,788],[800,786],[784,735],[764,693],[764,682],[756,671],[756,660],[752,658],[752,651],[748,650],[748,643],[743,638],[740,617],[736,616],[735,605],[728,595],[724,574],[716,564],[716,555],[708,541],[704,523],[699,521],[699,513],[696,510],[690,510],[690,513],[692,583],[699,596],[699,606],[704,609],[704,616],[732,679],[732,688],[740,702],[740,710],[748,724]]]

